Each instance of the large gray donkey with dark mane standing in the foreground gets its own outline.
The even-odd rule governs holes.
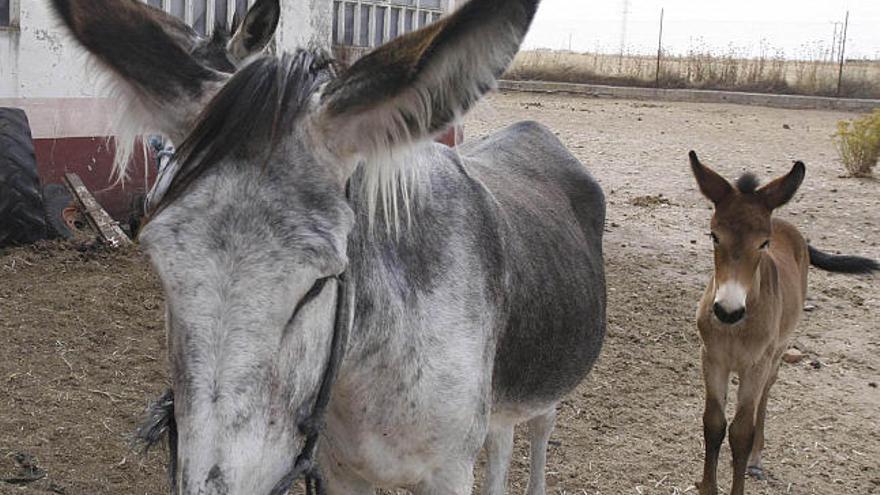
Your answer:
[[[278,0],[209,40],[135,0],[52,3],[132,123],[179,143],[141,232],[166,295],[172,493],[283,494],[316,463],[330,494],[467,494],[485,445],[498,495],[524,422],[545,492],[555,407],[604,338],[604,197],[539,124],[431,142],[537,0],[471,0],[344,70],[261,56]]]

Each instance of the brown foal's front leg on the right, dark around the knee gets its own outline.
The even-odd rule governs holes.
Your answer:
[[[736,416],[730,424],[730,450],[733,452],[733,486],[730,495],[743,495],[746,467],[755,441],[755,419],[761,395],[769,379],[767,364],[758,364],[740,376]]]

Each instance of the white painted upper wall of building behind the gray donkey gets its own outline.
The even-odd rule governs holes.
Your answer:
[[[0,98],[102,96],[88,58],[49,10],[47,0],[20,0],[20,30],[0,30]],[[332,0],[283,0],[279,47],[330,47]]]

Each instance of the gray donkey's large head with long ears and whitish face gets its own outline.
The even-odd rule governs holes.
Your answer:
[[[278,0],[257,0],[232,37],[232,72],[136,0],[53,2],[179,144],[141,233],[166,295],[175,490],[268,494],[301,449],[328,361],[333,277],[354,225],[349,178],[360,166],[381,186],[383,157],[467,111],[516,53],[537,0],[471,0],[341,75],[317,50],[237,63],[265,45]]]

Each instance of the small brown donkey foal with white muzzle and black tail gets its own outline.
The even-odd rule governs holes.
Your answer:
[[[866,258],[822,253],[808,246],[794,225],[771,218],[773,210],[800,187],[805,174],[802,162],[795,163],[788,175],[758,188],[753,175],[744,175],[733,186],[701,164],[693,151],[690,160],[700,191],[715,203],[711,233],[715,275],[697,311],[706,387],[706,458],[703,481],[697,487],[701,495],[718,493],[718,453],[727,427],[724,405],[730,374],[736,373],[739,392],[730,424],[730,493],[742,495],[747,468],[749,474],[763,478],[767,396],[803,311],[809,265],[842,273],[868,273],[880,266]]]

